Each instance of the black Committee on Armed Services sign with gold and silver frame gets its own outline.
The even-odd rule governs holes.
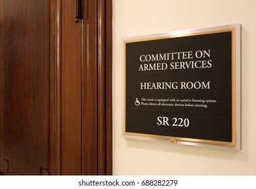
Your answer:
[[[236,146],[240,25],[123,42],[125,135]]]

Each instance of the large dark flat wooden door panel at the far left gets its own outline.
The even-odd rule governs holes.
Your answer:
[[[1,12],[1,171],[48,173],[49,2],[3,0]]]

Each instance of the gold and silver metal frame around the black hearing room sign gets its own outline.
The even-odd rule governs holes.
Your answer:
[[[182,36],[195,36],[201,34],[214,34],[218,32],[232,32],[232,142],[126,132],[126,43],[153,41],[165,38],[178,38]],[[168,32],[165,34],[128,37],[122,38],[122,42],[124,53],[124,137],[138,138],[143,140],[168,140],[175,144],[190,144],[240,150],[240,24],[199,28],[193,30],[181,30],[176,32]]]

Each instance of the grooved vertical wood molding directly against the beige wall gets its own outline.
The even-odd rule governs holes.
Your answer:
[[[98,0],[98,174],[112,175],[112,1]]]

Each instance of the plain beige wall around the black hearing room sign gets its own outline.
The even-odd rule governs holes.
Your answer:
[[[113,0],[113,173],[256,175],[256,1]],[[242,150],[122,138],[122,38],[242,25]]]

